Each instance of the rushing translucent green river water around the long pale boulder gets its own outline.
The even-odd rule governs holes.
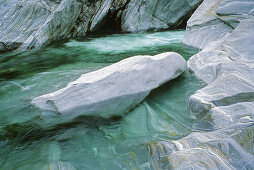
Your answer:
[[[76,169],[151,168],[149,143],[193,131],[195,120],[186,102],[202,83],[188,72],[152,91],[131,112],[112,119],[79,117],[63,122],[30,103],[81,74],[126,57],[174,51],[187,60],[196,51],[181,45],[183,34],[104,35],[1,54],[0,169],[41,169],[56,162]]]

